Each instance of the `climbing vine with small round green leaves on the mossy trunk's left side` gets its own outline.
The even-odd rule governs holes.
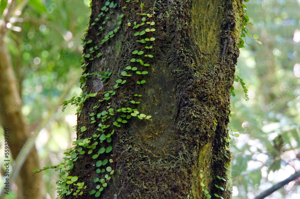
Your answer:
[[[129,2],[127,0],[126,2]],[[95,28],[97,26],[98,30],[106,31],[107,34],[104,36],[104,39],[101,40],[99,46],[107,42],[110,38],[112,38],[119,30],[120,25],[122,24],[122,18],[124,14],[121,14],[117,17],[118,22],[116,23],[116,27],[113,30],[106,30],[106,24],[109,19],[113,17],[113,8],[117,6],[116,3],[113,1],[107,0],[104,6],[101,8],[101,13],[95,19],[94,22],[90,23],[89,28]],[[100,71],[97,73],[84,73],[79,77],[81,83],[82,94],[80,97],[72,97],[70,100],[64,101],[62,105],[62,111],[65,110],[68,104],[76,105],[77,107],[77,114],[80,114],[82,111],[82,107],[84,102],[89,97],[100,97],[99,102],[106,102],[106,105],[95,105],[92,113],[89,114],[91,124],[98,123],[98,128],[96,131],[99,133],[94,133],[91,137],[88,138],[81,138],[82,133],[88,130],[85,126],[81,126],[80,129],[77,127],[77,140],[73,141],[73,147],[68,149],[66,153],[66,157],[64,157],[63,161],[59,165],[44,167],[39,170],[33,170],[34,173],[38,173],[48,168],[55,168],[55,171],[60,171],[58,174],[59,179],[57,179],[56,184],[58,186],[57,193],[58,198],[64,198],[66,195],[82,195],[84,190],[87,188],[85,186],[85,182],[78,182],[79,179],[77,176],[71,176],[70,171],[74,167],[74,162],[78,159],[80,155],[85,153],[90,154],[92,159],[95,159],[95,172],[98,174],[93,181],[96,183],[95,187],[88,187],[89,194],[95,195],[95,197],[99,197],[101,192],[108,186],[108,181],[111,179],[112,175],[114,174],[114,169],[110,165],[113,163],[113,158],[108,159],[101,159],[102,154],[110,154],[113,157],[112,150],[113,147],[112,143],[112,136],[115,132],[115,129],[111,129],[113,126],[114,128],[121,127],[123,123],[127,123],[131,117],[137,117],[140,120],[151,120],[151,115],[146,115],[140,113],[136,107],[136,104],[140,104],[139,98],[142,97],[141,94],[134,94],[130,103],[132,107],[121,107],[117,108],[116,110],[111,107],[111,99],[116,94],[117,89],[125,84],[127,80],[125,77],[129,76],[135,79],[138,85],[146,83],[144,79],[144,75],[148,74],[147,67],[150,64],[147,63],[147,58],[153,58],[153,55],[150,54],[153,48],[153,41],[155,37],[153,37],[153,32],[155,31],[154,25],[155,22],[153,21],[154,10],[153,8],[150,9],[150,13],[143,13],[144,4],[140,4],[140,13],[138,14],[138,21],[133,22],[131,25],[130,22],[126,24],[128,28],[137,30],[137,32],[133,33],[133,37],[137,37],[136,42],[139,42],[140,45],[138,46],[139,49],[134,50],[131,52],[133,58],[129,60],[130,66],[126,66],[125,70],[120,73],[124,79],[117,79],[116,84],[113,86],[113,90],[104,91],[100,93],[89,93],[87,94],[86,91],[86,82],[87,79],[91,75],[100,75],[102,78],[103,85],[107,85],[108,81],[113,72],[111,71]],[[126,9],[122,7],[122,9]],[[146,26],[146,27],[145,27]],[[88,30],[86,30],[87,32]],[[97,33],[97,35],[100,34]],[[82,62],[81,68],[83,71],[86,70],[88,67],[89,61],[99,58],[103,55],[102,52],[98,52],[100,49],[99,46],[91,46],[93,41],[85,40],[86,33],[84,37],[82,37],[82,46],[85,48],[85,53],[82,54]],[[145,44],[145,45],[143,45]],[[146,60],[144,59],[146,58]],[[86,61],[88,60],[88,61]],[[105,107],[102,110],[99,110],[102,107]],[[110,127],[110,128],[109,128]],[[79,135],[79,132],[81,133]],[[107,133],[108,132],[108,133]]]

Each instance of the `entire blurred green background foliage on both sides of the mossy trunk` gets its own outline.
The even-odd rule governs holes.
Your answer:
[[[1,13],[6,2],[0,1]],[[76,77],[81,73],[80,38],[88,28],[89,4],[88,0],[30,0],[12,19],[4,37],[29,129],[55,109],[53,123],[36,139],[42,167],[57,165],[76,137],[76,108],[68,106],[61,113],[61,107],[55,104],[60,104],[66,93],[64,99],[80,93]],[[233,198],[253,199],[300,170],[300,1],[250,0],[244,4],[254,24],[247,28],[259,35],[262,45],[246,36],[248,45],[240,49],[236,75],[246,83],[250,102],[243,99],[243,89],[235,82],[230,124],[239,137],[230,141]],[[72,81],[76,83],[69,86],[67,83]],[[0,131],[0,139],[4,140],[3,129]],[[3,154],[2,143],[0,147]],[[2,159],[0,163],[3,165]],[[3,171],[1,168],[1,180]],[[51,169],[43,171],[47,199],[57,195],[56,175]],[[17,187],[11,185],[10,195],[5,198],[17,198],[16,192]],[[299,180],[267,198],[300,198]]]

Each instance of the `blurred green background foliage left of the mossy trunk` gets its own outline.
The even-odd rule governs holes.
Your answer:
[[[21,3],[24,3],[25,7],[21,13],[10,19],[10,31],[4,40],[12,57],[22,96],[22,113],[29,124],[29,131],[35,129],[52,109],[55,110],[52,116],[53,123],[42,129],[35,144],[41,167],[57,165],[61,162],[65,150],[71,147],[76,138],[73,129],[77,119],[76,108],[68,106],[61,113],[61,106],[58,105],[81,91],[77,77],[82,72],[81,37],[88,28],[90,1],[18,1],[18,4]],[[7,1],[0,1],[1,13],[6,4]],[[74,84],[70,85],[68,82]],[[61,97],[66,94],[62,100]],[[3,129],[0,131],[0,139],[4,140]],[[0,146],[0,153],[4,154],[2,142]],[[0,163],[4,165],[2,158]],[[56,198],[56,173],[54,169],[43,171],[47,199]],[[3,176],[4,170],[1,168],[1,182]],[[10,188],[6,199],[17,197],[17,187],[10,185]],[[30,198],[32,191],[34,190],[29,190],[27,198]]]

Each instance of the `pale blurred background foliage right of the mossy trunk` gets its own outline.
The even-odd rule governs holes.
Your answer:
[[[246,83],[250,102],[235,82],[230,124],[240,136],[231,139],[232,180],[233,198],[253,199],[300,170],[300,1],[244,4],[254,24],[248,31],[262,45],[246,36],[249,45],[240,49],[235,74]],[[300,198],[299,180],[267,198]]]

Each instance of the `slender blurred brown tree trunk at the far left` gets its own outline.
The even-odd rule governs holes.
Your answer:
[[[26,2],[22,1],[22,4],[18,6],[22,7]],[[16,159],[29,134],[25,118],[22,115],[22,99],[14,76],[11,57],[3,40],[4,35],[7,33],[5,24],[13,14],[16,5],[16,1],[12,1],[11,6],[7,6],[9,11],[2,22],[4,25],[0,28],[0,125],[3,128],[9,128],[10,166],[12,166],[12,160]],[[16,180],[18,198],[41,199],[46,197],[45,193],[43,193],[44,183],[42,175],[32,176],[32,170],[36,168],[39,168],[39,158],[34,147],[24,162],[20,175]],[[6,194],[3,193],[1,197],[4,195]]]

